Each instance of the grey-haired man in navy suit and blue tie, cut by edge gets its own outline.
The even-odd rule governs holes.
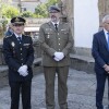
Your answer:
[[[106,77],[109,82],[109,15],[102,19],[104,29],[96,33],[93,38],[92,53],[95,59],[95,72],[97,80],[96,107],[104,109],[102,97]]]

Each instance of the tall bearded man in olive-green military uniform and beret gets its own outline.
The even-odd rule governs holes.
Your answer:
[[[68,109],[68,74],[70,51],[73,46],[71,27],[60,22],[60,9],[49,8],[50,21],[39,29],[39,40],[43,48],[43,65],[46,80],[46,106],[55,109],[55,77],[58,74],[58,100],[60,109]]]

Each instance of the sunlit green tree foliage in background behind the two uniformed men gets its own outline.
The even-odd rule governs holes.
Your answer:
[[[12,0],[10,0],[11,2]],[[20,13],[20,9],[10,5],[10,3],[2,3],[1,13],[3,17],[11,19],[13,16],[21,15],[23,17],[47,17],[48,8],[58,3],[58,0],[47,0],[45,3],[40,3],[36,7],[35,13],[25,11]]]

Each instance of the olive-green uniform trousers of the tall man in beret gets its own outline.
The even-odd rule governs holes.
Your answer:
[[[58,75],[58,101],[60,109],[68,109],[68,74],[69,66],[44,66],[46,81],[46,106],[47,109],[55,109],[55,78]]]

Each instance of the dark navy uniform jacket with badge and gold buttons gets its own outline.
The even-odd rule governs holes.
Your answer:
[[[9,81],[31,80],[33,76],[32,64],[34,61],[33,41],[29,36],[22,35],[22,44],[15,35],[5,36],[3,39],[4,60],[9,66]],[[17,70],[27,64],[28,75],[23,77]]]

